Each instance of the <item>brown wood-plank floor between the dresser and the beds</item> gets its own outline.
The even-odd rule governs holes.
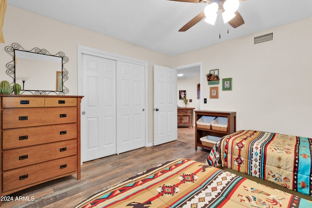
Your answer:
[[[195,151],[195,129],[179,128],[178,141],[150,146],[83,163],[81,180],[76,175],[30,187],[10,196],[34,197],[34,201],[3,202],[3,208],[71,208],[99,190],[141,171],[175,158],[194,159],[205,163],[209,150]],[[42,170],[44,174],[44,170]]]

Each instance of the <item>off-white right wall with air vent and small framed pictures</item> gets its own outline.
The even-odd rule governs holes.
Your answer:
[[[274,32],[275,41],[253,46],[254,36]],[[174,57],[175,65],[203,62],[203,75],[219,69],[233,78],[233,90],[209,99],[207,110],[236,111],[236,129],[312,137],[312,18]],[[210,54],[209,57],[205,54]],[[203,76],[202,83],[207,83]]]

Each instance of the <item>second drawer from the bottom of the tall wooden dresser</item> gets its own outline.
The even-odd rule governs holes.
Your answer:
[[[3,150],[2,169],[9,170],[76,154],[76,139],[45,145]]]

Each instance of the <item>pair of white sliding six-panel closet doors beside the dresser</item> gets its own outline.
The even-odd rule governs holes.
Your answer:
[[[82,54],[81,162],[145,146],[145,67]]]

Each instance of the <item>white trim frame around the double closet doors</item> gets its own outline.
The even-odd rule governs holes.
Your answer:
[[[143,65],[145,67],[145,146],[148,146],[148,62],[144,60],[135,59],[107,51],[102,51],[96,48],[91,48],[83,45],[77,45],[77,83],[82,82],[82,54],[88,54],[92,56],[99,56],[106,59],[112,59],[116,61],[129,62],[137,65]],[[82,95],[82,86],[78,84],[78,95]],[[82,95],[83,96],[83,95]],[[83,101],[81,101],[83,102]],[[81,109],[83,111],[83,109]],[[80,114],[80,118],[81,118]],[[82,119],[82,118],[81,118]],[[81,164],[82,165],[82,164]]]

